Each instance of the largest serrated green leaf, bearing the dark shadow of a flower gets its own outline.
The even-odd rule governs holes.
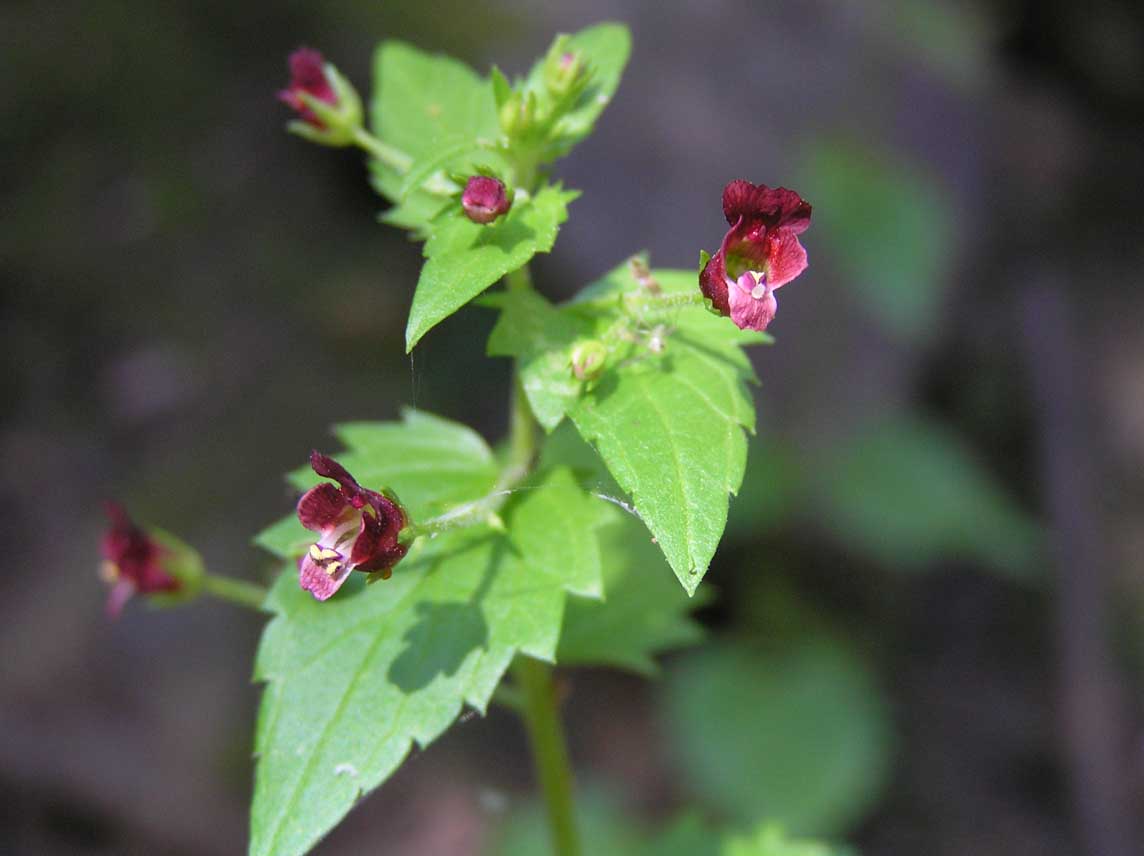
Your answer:
[[[410,421],[388,427],[348,433],[359,463],[370,447],[394,483],[407,473],[402,453],[423,437]],[[293,565],[284,570],[256,663],[267,688],[252,856],[304,853],[413,742],[430,743],[464,704],[484,711],[517,652],[555,658],[566,593],[601,591],[599,513],[557,469],[515,493],[502,516],[506,532],[479,525],[422,539],[390,580],[355,579],[326,603],[299,588]]]

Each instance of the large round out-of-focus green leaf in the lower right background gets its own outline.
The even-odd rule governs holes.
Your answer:
[[[888,705],[869,667],[833,637],[706,645],[673,668],[665,689],[681,780],[740,823],[765,817],[800,834],[834,834],[888,779]]]

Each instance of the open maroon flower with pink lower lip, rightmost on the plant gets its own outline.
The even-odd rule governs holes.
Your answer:
[[[810,204],[793,190],[739,180],[723,188],[723,216],[731,228],[699,287],[738,327],[765,330],[778,309],[774,292],[807,269],[797,236],[810,225]]]

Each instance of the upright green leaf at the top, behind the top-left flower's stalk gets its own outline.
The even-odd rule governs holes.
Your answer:
[[[400,41],[384,41],[374,54],[371,118],[373,133],[408,154],[414,169],[450,145],[472,152],[487,150],[500,138],[496,105],[485,78],[458,60]],[[487,152],[488,159],[498,157]],[[446,159],[434,168],[453,165]],[[371,172],[378,191],[398,203],[383,216],[392,225],[424,236],[428,222],[450,201],[447,197],[406,188],[407,174],[379,160],[371,161]]]

